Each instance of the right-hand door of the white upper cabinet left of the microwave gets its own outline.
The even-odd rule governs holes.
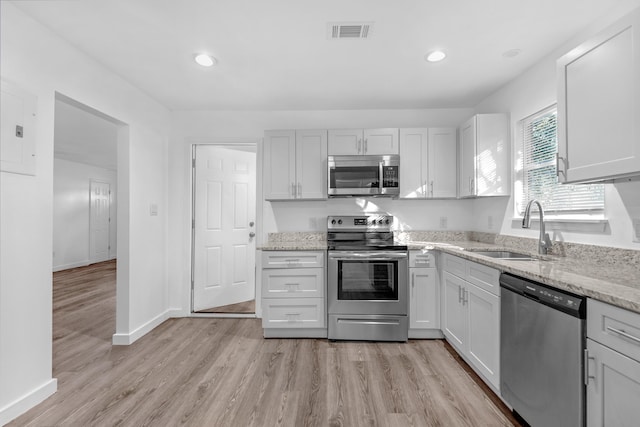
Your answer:
[[[327,198],[327,131],[296,132],[296,198]]]

